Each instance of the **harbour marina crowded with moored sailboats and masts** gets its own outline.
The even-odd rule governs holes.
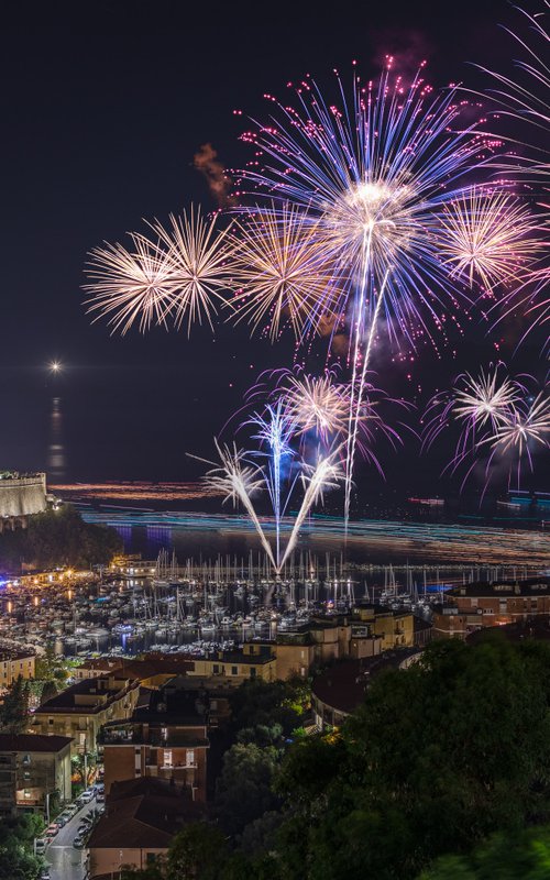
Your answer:
[[[135,657],[144,651],[200,657],[243,642],[272,641],[314,616],[356,603],[429,620],[433,603],[459,584],[525,580],[540,565],[345,565],[343,557],[296,553],[274,578],[261,553],[180,563],[124,557],[94,572],[56,571],[3,583],[0,638],[59,657]]]

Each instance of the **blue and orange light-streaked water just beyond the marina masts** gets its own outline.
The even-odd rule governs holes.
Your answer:
[[[179,558],[216,558],[218,553],[248,554],[257,541],[249,521],[238,515],[189,512],[81,508],[88,522],[117,528],[128,551],[158,551],[174,547]],[[472,517],[473,519],[473,517]],[[504,518],[503,518],[504,520]],[[274,530],[265,518],[266,534]],[[420,562],[548,565],[550,536],[543,529],[518,529],[506,525],[486,526],[444,522],[365,519],[352,521],[348,530],[346,558],[354,563],[393,562],[407,559]],[[293,519],[283,520],[288,532]],[[344,546],[343,520],[312,516],[304,525],[299,549],[315,553],[340,553]]]

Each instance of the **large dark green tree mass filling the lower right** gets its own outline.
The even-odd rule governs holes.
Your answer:
[[[284,761],[285,877],[416,877],[498,829],[550,820],[548,646],[433,642],[377,676],[340,735]]]

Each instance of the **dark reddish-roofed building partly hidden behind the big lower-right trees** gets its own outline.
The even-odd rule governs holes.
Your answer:
[[[419,656],[417,648],[402,648],[365,660],[342,660],[321,672],[311,685],[318,729],[339,727],[361,705],[375,675],[386,669],[406,669]]]

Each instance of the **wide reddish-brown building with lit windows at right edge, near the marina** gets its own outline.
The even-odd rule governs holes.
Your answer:
[[[463,584],[446,594],[433,608],[433,635],[465,639],[491,626],[550,615],[550,578]]]

